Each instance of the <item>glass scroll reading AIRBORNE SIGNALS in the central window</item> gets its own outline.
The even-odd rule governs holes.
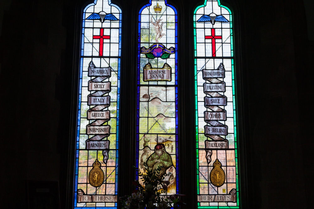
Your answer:
[[[165,63],[162,68],[152,68],[147,63],[143,67],[143,81],[171,81],[171,67]]]

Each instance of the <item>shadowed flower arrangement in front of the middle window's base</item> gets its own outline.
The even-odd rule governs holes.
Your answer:
[[[170,182],[163,179],[170,174],[160,175],[163,166],[155,170],[150,169],[146,164],[144,166],[146,175],[141,173],[138,168],[135,168],[143,185],[138,180],[134,180],[135,190],[132,195],[119,198],[123,209],[170,209],[179,208],[179,205],[184,204],[179,199],[179,196],[184,195],[166,196]]]

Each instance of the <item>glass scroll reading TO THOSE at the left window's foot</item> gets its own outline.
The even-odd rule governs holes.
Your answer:
[[[85,195],[84,191],[78,189],[77,202],[116,202],[117,195]]]

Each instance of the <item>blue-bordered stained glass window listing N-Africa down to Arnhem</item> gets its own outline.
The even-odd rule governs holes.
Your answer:
[[[121,9],[95,0],[83,10],[74,208],[117,208]]]

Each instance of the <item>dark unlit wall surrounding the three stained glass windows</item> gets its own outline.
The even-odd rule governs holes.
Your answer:
[[[57,180],[72,204],[80,9],[85,1],[0,2],[1,207],[27,207],[27,180]],[[89,1],[93,2],[93,1]],[[120,196],[134,172],[137,13],[122,9]],[[179,20],[180,193],[195,208],[192,14]],[[233,8],[243,208],[311,208],[314,2],[225,0]],[[75,53],[76,52],[76,53]],[[134,80],[133,80],[134,79]]]

